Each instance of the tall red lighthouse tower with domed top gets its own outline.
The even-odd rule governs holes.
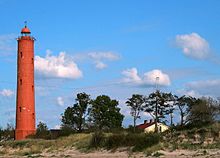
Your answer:
[[[25,27],[21,30],[17,55],[17,100],[15,140],[35,133],[34,37]]]

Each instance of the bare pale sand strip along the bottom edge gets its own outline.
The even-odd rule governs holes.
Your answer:
[[[219,149],[201,149],[197,151],[190,150],[175,150],[175,151],[158,151],[161,154],[161,158],[220,158]],[[82,153],[76,149],[68,149],[65,151],[56,152],[43,152],[41,154],[34,154],[29,156],[16,156],[16,155],[0,155],[0,158],[20,158],[20,157],[46,157],[46,158],[143,158],[143,157],[155,157],[147,156],[145,153],[128,153],[126,151],[95,151],[90,153]]]

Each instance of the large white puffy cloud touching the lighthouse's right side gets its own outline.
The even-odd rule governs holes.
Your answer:
[[[78,79],[82,77],[82,71],[77,64],[67,57],[65,52],[60,52],[58,56],[51,55],[47,50],[45,58],[35,56],[36,74],[45,78]]]

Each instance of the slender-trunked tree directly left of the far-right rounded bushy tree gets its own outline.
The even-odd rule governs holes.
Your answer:
[[[175,96],[175,105],[177,105],[180,111],[180,126],[184,126],[187,123],[186,116],[189,114],[190,109],[195,101],[196,98],[191,96]]]

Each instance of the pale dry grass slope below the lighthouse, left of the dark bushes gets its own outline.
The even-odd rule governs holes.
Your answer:
[[[66,148],[83,150],[89,144],[90,134],[74,134],[56,140],[29,139],[22,141],[7,141],[0,143],[0,155],[31,156],[42,152],[52,152]]]

